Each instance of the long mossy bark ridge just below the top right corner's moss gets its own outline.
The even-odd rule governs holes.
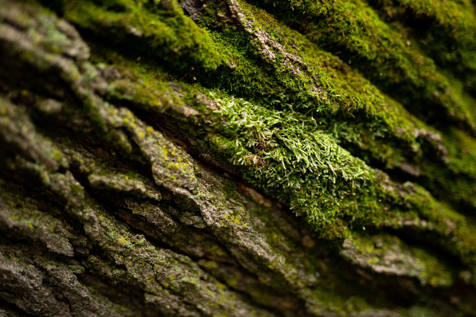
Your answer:
[[[277,11],[283,21],[298,26],[322,47],[338,51],[344,61],[354,61],[367,78],[392,92],[413,113],[437,120],[439,112],[428,112],[411,103],[437,104],[474,129],[474,100],[465,101],[452,91],[450,80],[438,71],[434,61],[418,48],[407,46],[407,40],[380,20],[367,3],[284,1],[270,2],[267,7],[273,5],[276,9],[271,10]]]

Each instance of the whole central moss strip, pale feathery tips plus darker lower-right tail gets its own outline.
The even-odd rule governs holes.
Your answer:
[[[149,89],[164,87],[160,82],[157,83],[159,86],[154,86],[154,82],[147,79],[145,73],[141,76],[146,76],[144,78],[147,81],[144,82],[151,85]],[[190,127],[190,132],[204,137],[206,142],[202,143],[203,146],[219,153],[216,156],[218,160],[224,159],[239,167],[248,181],[290,204],[298,214],[306,214],[324,237],[345,237],[343,228],[353,226],[353,223],[360,223],[364,227],[400,227],[405,223],[401,220],[402,217],[418,219],[415,213],[408,211],[414,208],[410,206],[418,206],[418,213],[424,219],[436,219],[439,224],[435,225],[441,226],[438,231],[445,234],[448,226],[442,218],[435,218],[433,214],[438,213],[437,210],[441,207],[436,207],[436,202],[432,202],[434,207],[426,206],[425,203],[432,201],[432,198],[425,191],[418,189],[419,193],[416,195],[414,190],[407,192],[405,187],[398,189],[394,184],[387,184],[385,177],[382,178],[380,173],[352,157],[339,147],[335,138],[320,130],[317,120],[292,110],[279,112],[266,109],[244,99],[228,97],[223,91],[207,92],[198,86],[185,84],[179,84],[179,87],[179,93],[184,95],[184,99],[192,101],[189,104],[194,106],[195,111],[183,110],[187,109],[183,106],[171,106],[169,109],[174,109],[171,116],[186,112],[188,115],[180,119],[185,124],[194,126]],[[167,89],[168,94],[175,93],[170,88]],[[131,91],[134,92],[134,89]],[[203,98],[203,93],[208,97]],[[170,97],[170,100],[173,99],[174,97]],[[143,106],[152,113],[155,112],[149,102]],[[199,115],[200,112],[203,114]],[[197,126],[200,127],[198,130]],[[217,134],[216,131],[221,133]],[[436,134],[425,129],[418,131],[421,131],[418,134],[426,135],[425,140],[431,146],[441,148]],[[418,137],[418,134],[413,137]],[[302,153],[299,149],[307,151]],[[310,181],[310,177],[316,177],[318,181]],[[348,180],[354,180],[354,184]],[[306,184],[306,187],[301,188],[302,184]],[[410,184],[406,186],[415,188]],[[319,198],[315,196],[316,192],[320,193]],[[408,194],[415,197],[406,197]],[[309,200],[309,197],[313,199]],[[392,208],[392,205],[401,207]],[[394,211],[388,214],[392,209]],[[340,217],[346,221],[340,220]],[[412,221],[410,223],[414,223]]]

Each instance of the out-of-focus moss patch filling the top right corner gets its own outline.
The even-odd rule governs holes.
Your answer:
[[[402,21],[411,42],[417,42],[435,62],[463,79],[474,92],[476,15],[471,1],[369,1],[384,21]]]

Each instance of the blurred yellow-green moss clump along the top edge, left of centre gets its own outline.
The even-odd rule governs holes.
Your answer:
[[[216,69],[226,62],[207,32],[184,15],[176,1],[64,1],[64,16],[126,52],[161,58],[178,68]],[[187,66],[186,66],[187,65]]]

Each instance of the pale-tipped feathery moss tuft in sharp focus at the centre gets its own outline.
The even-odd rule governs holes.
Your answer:
[[[225,133],[208,134],[211,148],[227,155],[230,163],[254,166],[250,172],[264,190],[284,189],[281,199],[286,201],[291,194],[291,207],[316,224],[335,221],[339,211],[331,197],[337,191],[351,193],[368,179],[364,163],[326,134],[313,131],[312,121],[240,99],[212,98],[224,116],[220,128]],[[321,188],[320,194],[309,202],[305,197],[315,186]],[[326,208],[317,212],[316,205]]]

